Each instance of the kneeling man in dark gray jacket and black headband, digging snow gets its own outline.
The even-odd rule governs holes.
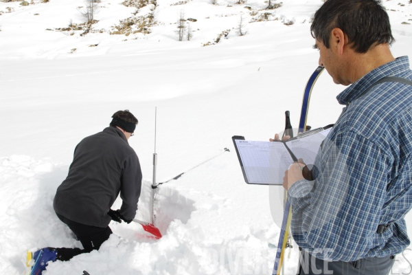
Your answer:
[[[69,261],[78,254],[98,250],[112,233],[108,227],[112,219],[130,223],[135,218],[141,191],[141,168],[128,139],[138,121],[128,110],[117,111],[112,118],[110,126],[85,137],[76,146],[69,175],[54,197],[58,218],[69,226],[83,249],[38,250],[31,255],[35,261],[32,271],[36,265],[44,270],[48,261]],[[111,210],[119,194],[122,207]]]

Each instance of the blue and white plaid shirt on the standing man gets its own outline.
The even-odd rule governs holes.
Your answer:
[[[412,86],[381,83],[361,96],[384,76],[412,80],[408,57],[374,69],[337,96],[347,109],[319,149],[314,180],[289,189],[293,237],[319,259],[382,257],[410,243],[404,216],[412,208]]]

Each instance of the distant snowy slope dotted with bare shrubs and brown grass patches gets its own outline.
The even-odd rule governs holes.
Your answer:
[[[137,1],[130,0],[131,3]],[[147,1],[149,3],[149,1]],[[178,47],[200,47],[205,43],[215,43],[218,35],[230,30],[231,36],[235,36],[235,28],[240,21],[240,14],[245,19],[246,30],[251,33],[255,28],[268,25],[265,22],[273,21],[271,28],[282,23],[304,23],[309,22],[314,10],[321,3],[318,1],[291,1],[277,3],[280,8],[274,10],[264,10],[268,3],[264,1],[247,1],[238,4],[236,1],[219,0],[216,5],[212,5],[209,0],[174,1],[159,0],[156,7],[148,4],[137,9],[133,5],[126,7],[122,5],[122,0],[104,0],[98,4],[99,10],[95,14],[97,23],[91,25],[89,34],[83,34],[82,30],[58,31],[56,29],[68,29],[70,24],[80,25],[85,19],[81,11],[85,8],[84,1],[81,0],[60,0],[42,3],[40,0],[34,1],[33,5],[22,6],[20,2],[0,3],[0,24],[2,25],[2,41],[0,45],[1,55],[4,57],[32,56],[53,58],[58,54],[67,56],[71,50],[76,49],[76,54],[104,54],[108,48],[118,45],[122,41],[133,39],[150,39],[161,41],[176,41],[176,21],[179,19],[181,11],[185,14],[185,19],[196,19],[190,23],[193,38],[190,42],[185,42]],[[152,3],[152,2],[150,2]],[[8,12],[10,10],[12,12]],[[136,11],[138,12],[136,13]],[[149,29],[150,34],[142,32],[133,33],[139,30],[139,23],[130,25],[130,33],[115,33],[115,25],[123,26],[120,21],[128,22],[139,17],[147,17],[152,14],[154,25]],[[257,21],[249,23],[249,21]],[[140,22],[141,23],[141,22]],[[84,27],[84,26],[83,26]],[[96,45],[98,47],[89,47]],[[170,47],[174,45],[167,45]],[[177,46],[177,45],[175,45]]]

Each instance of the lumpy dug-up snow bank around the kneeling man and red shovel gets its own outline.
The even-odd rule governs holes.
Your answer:
[[[67,166],[24,155],[1,158],[0,163],[0,191],[8,194],[0,205],[1,273],[21,274],[21,256],[29,248],[81,248],[52,206]],[[114,234],[99,251],[51,263],[44,274],[83,270],[90,274],[268,274],[275,250],[268,248],[267,240],[275,241],[277,227],[227,226],[233,220],[218,217],[230,214],[236,203],[210,192],[186,191],[192,198],[175,188],[157,189],[155,223],[163,234],[160,240],[137,223],[112,222]],[[150,221],[150,192],[150,182],[144,181],[137,217],[146,221]],[[113,208],[120,203],[116,201]]]

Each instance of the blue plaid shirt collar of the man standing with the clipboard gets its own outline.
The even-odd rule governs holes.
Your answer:
[[[350,85],[350,87],[347,87],[341,92],[341,94],[336,96],[336,99],[338,100],[339,104],[347,105],[353,100],[359,98],[363,91],[369,88],[372,84],[376,83],[376,81],[380,80],[380,78],[385,76],[395,76],[396,74],[399,74],[400,72],[406,71],[408,69],[408,56],[398,57],[394,61],[377,67],[371,72],[365,74],[365,76],[362,76],[354,84]]]

